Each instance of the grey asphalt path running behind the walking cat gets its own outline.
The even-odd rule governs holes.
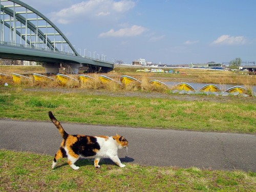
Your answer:
[[[256,172],[256,135],[61,123],[69,134],[123,135],[122,162]],[[0,119],[0,148],[54,156],[61,136],[52,122]],[[108,163],[103,160],[100,164]],[[51,162],[49,162],[51,166]]]

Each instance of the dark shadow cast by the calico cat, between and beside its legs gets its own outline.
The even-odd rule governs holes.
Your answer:
[[[120,161],[122,163],[130,163],[130,162],[133,162],[134,159],[131,158],[131,157],[123,157],[123,158],[119,158]],[[56,168],[59,168],[59,167],[62,167],[62,166],[67,166],[68,163],[62,163],[62,164],[59,164],[56,166]],[[93,158],[88,158],[88,159],[79,159],[75,165],[79,166],[79,167],[82,167],[82,166],[89,166],[89,165],[92,165],[94,166],[94,159]],[[102,158],[100,159],[100,162],[99,162],[99,165],[116,165],[111,159],[109,158]]]

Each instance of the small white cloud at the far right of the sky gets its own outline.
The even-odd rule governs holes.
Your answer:
[[[214,45],[243,45],[246,43],[246,38],[244,36],[230,36],[221,35],[215,41],[212,42]]]

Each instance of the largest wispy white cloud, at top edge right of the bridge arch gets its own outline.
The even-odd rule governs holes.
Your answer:
[[[69,24],[82,19],[118,19],[134,6],[135,2],[132,0],[118,2],[114,0],[88,0],[61,9],[58,12],[52,12],[51,19],[61,24]]]

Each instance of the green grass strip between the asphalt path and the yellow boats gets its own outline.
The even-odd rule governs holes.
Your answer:
[[[92,95],[45,88],[23,91],[0,89],[0,118],[49,120],[53,111],[60,121],[160,129],[256,133],[254,99],[229,97],[216,102],[198,100]],[[189,96],[187,96],[189,97]]]

